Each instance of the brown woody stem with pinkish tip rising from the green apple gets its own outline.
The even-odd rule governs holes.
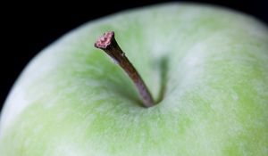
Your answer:
[[[114,62],[119,64],[121,68],[127,72],[129,77],[137,86],[138,93],[142,97],[145,107],[155,105],[152,95],[150,94],[142,78],[139,76],[138,71],[134,68],[129,59],[126,57],[125,53],[117,44],[113,31],[108,31],[102,37],[99,37],[96,40],[95,47],[105,51],[105,53],[112,57]]]

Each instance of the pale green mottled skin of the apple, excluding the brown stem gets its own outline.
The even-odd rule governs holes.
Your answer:
[[[155,98],[166,87],[163,101],[142,107],[130,78],[93,46],[107,30]],[[89,22],[39,53],[4,103],[0,155],[264,156],[267,110],[262,22],[211,5],[155,5]]]

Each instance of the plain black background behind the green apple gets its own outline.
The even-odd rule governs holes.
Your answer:
[[[90,0],[91,1],[91,0]],[[21,70],[46,45],[80,24],[113,12],[166,1],[144,0],[109,2],[88,1],[87,3],[17,3],[1,4],[1,71],[0,109]],[[218,4],[251,14],[268,23],[268,5],[265,0],[204,0],[201,3]],[[99,8],[101,11],[95,11]]]

